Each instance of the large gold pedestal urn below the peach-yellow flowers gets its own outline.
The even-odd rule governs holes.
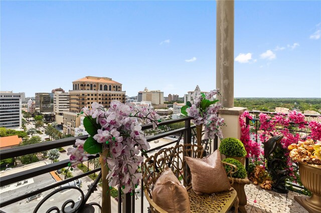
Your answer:
[[[299,174],[312,196],[294,196],[294,199],[309,212],[321,212],[321,165],[299,162]]]

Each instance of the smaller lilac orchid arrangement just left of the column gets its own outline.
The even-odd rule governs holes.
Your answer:
[[[196,125],[204,125],[204,138],[214,139],[215,135],[219,138],[223,138],[222,125],[224,125],[224,119],[218,115],[218,111],[222,108],[219,100],[212,100],[214,95],[220,94],[219,89],[214,89],[207,94],[201,92],[196,95],[195,99],[186,102],[186,105],[182,106],[181,113],[193,117],[192,122]]]

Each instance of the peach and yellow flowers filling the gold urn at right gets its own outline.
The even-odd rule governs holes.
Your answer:
[[[288,146],[289,156],[295,162],[321,164],[321,141],[307,139]]]

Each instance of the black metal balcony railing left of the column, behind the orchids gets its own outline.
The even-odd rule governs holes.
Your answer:
[[[183,121],[185,123],[185,126],[183,128],[179,128],[179,129],[175,129],[175,130],[171,130],[171,131],[167,131],[164,133],[160,133],[157,135],[147,137],[146,138],[147,141],[150,142],[153,140],[157,140],[160,138],[171,136],[173,134],[179,135],[178,138],[173,138],[171,142],[153,147],[153,148],[151,148],[141,154],[144,156],[148,156],[148,155],[152,154],[152,152],[157,149],[165,148],[166,146],[169,146],[169,145],[174,146],[174,145],[176,145],[180,142],[183,142],[183,141],[184,141],[184,143],[191,143],[191,142],[194,143],[196,141],[196,136],[195,136],[196,132],[194,129],[195,125],[191,126],[191,119],[192,119],[191,117],[184,117],[184,118],[162,121],[160,125],[169,125],[169,124],[178,123],[178,122]],[[149,129],[149,128],[152,128],[152,124],[145,124],[142,126],[142,130]],[[181,141],[183,136],[184,136],[184,140]],[[26,154],[38,153],[41,151],[46,151],[46,150],[50,150],[50,149],[54,149],[54,148],[74,145],[76,139],[86,139],[87,137],[88,137],[87,135],[77,136],[77,137],[69,137],[69,138],[64,138],[64,139],[59,139],[59,140],[54,140],[54,141],[46,141],[46,142],[41,142],[41,143],[32,144],[32,145],[18,146],[18,147],[14,147],[14,148],[10,148],[10,149],[5,149],[0,152],[0,158],[1,159],[8,159],[8,158],[18,157],[18,156],[22,156],[22,155],[26,155]],[[215,150],[217,148],[217,138],[212,143],[209,140],[203,140],[202,143],[204,146],[205,154],[209,154],[212,152],[212,150]],[[98,154],[96,156],[89,156],[89,159],[93,159],[96,157],[99,157]],[[14,173],[14,174],[3,176],[0,179],[0,187],[4,188],[5,186],[17,183],[19,181],[26,180],[28,178],[33,178],[35,176],[49,173],[51,171],[56,171],[57,169],[67,167],[68,163],[69,163],[69,159],[61,160],[59,162],[54,162],[51,164],[47,164],[47,165],[43,165],[43,166],[28,169],[28,170],[23,170],[23,171]],[[85,173],[73,176],[71,178],[67,178],[65,180],[55,182],[53,184],[50,184],[45,187],[39,188],[37,190],[28,192],[26,194],[18,194],[17,196],[15,196],[13,198],[2,201],[0,203],[0,207],[3,208],[5,206],[16,203],[16,202],[26,199],[28,197],[36,196],[39,193],[42,193],[42,192],[45,192],[48,190],[52,190],[54,188],[64,185],[65,183],[72,182],[74,180],[85,177],[85,176],[95,173],[95,172],[100,172],[100,170],[101,170],[100,168],[95,168],[91,171],[87,171]],[[88,186],[89,187],[88,192],[85,195],[83,195],[80,204],[77,205],[78,207],[83,207],[85,205],[89,196],[97,188],[97,184],[99,183],[100,178],[101,178],[101,172],[96,177],[95,181],[93,181],[91,183],[91,185]],[[62,190],[62,189],[61,188],[56,189],[53,192],[51,192],[51,194],[57,193],[59,190]],[[120,191],[121,191],[120,188],[118,188],[118,212],[135,212],[135,203],[138,202],[137,200],[135,200],[135,195],[130,195],[130,193],[121,195]],[[140,211],[146,212],[147,209],[144,209],[144,207],[143,207],[144,206],[144,201],[143,201],[144,197],[143,197],[143,183],[142,183],[142,181],[141,181],[141,192],[140,193],[141,193],[140,194],[140,203],[139,203],[141,205]],[[103,195],[103,196],[106,196],[106,195]],[[59,204],[59,203],[55,203],[55,205],[57,205],[57,204]],[[65,203],[65,204],[60,203],[60,204],[62,206],[64,206],[67,203]],[[96,203],[96,204],[99,206],[98,203]],[[74,207],[77,207],[77,206],[74,206]],[[37,212],[39,207],[40,206],[37,206],[34,212]],[[64,207],[62,207],[62,209],[63,208]],[[5,211],[0,210],[0,212],[5,212]]]

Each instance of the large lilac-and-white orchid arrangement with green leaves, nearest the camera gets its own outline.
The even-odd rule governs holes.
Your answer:
[[[77,139],[75,146],[68,148],[70,166],[88,160],[92,154],[105,153],[102,156],[108,168],[106,179],[110,187],[119,185],[123,193],[134,191],[142,178],[139,165],[143,157],[138,155],[150,148],[143,132],[141,121],[152,122],[153,127],[161,122],[160,116],[147,108],[135,108],[134,104],[123,104],[112,100],[110,108],[93,102],[91,109],[84,107],[84,127],[89,133],[86,140]]]

